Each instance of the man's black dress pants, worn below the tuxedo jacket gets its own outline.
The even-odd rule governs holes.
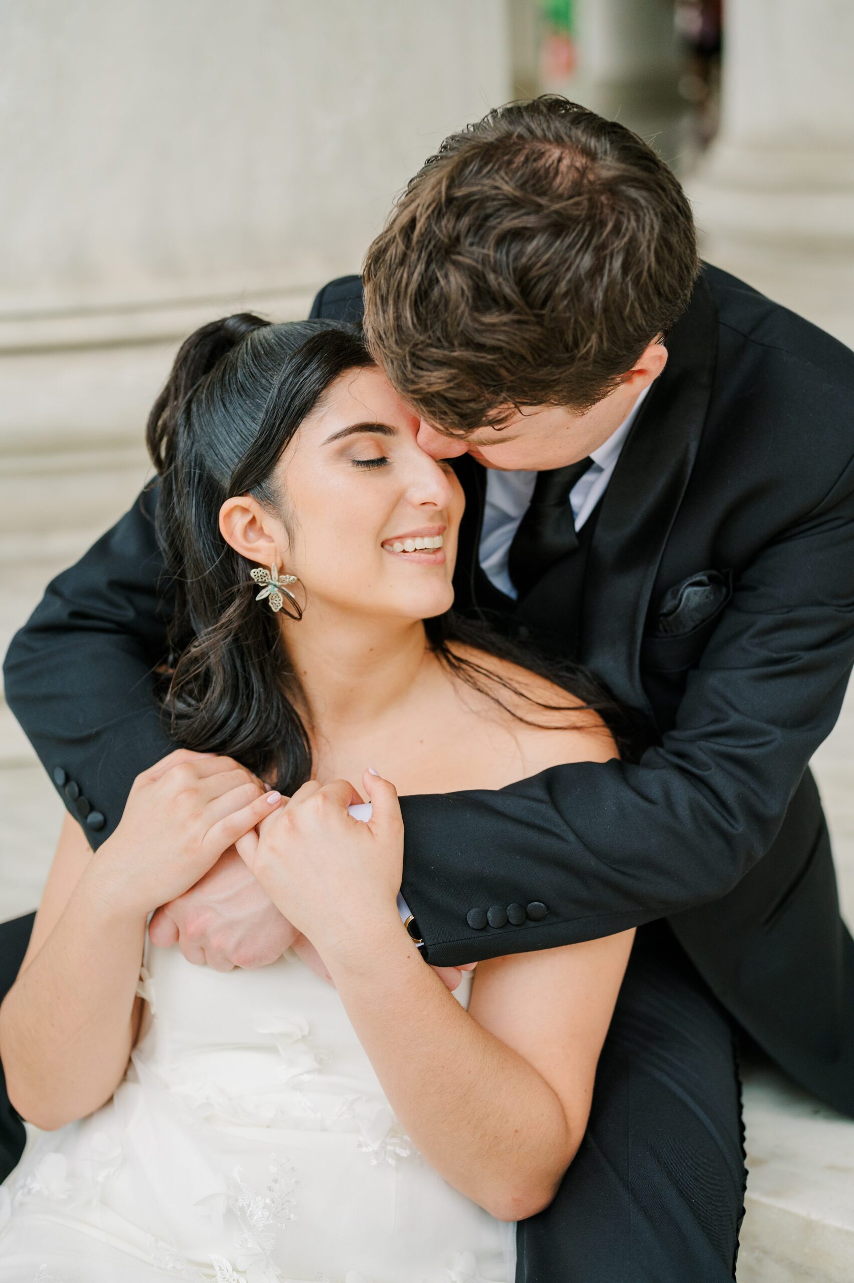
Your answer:
[[[0,925],[0,997],[32,915]],[[23,1150],[0,1096],[0,1179]],[[735,1030],[663,922],[636,938],[587,1134],[557,1197],[518,1228],[520,1283],[731,1283],[744,1215]]]

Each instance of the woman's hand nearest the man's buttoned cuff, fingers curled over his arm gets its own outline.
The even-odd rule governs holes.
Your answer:
[[[397,922],[403,874],[403,820],[394,785],[365,772],[371,819],[347,812],[362,798],[347,780],[303,784],[263,820],[254,849],[240,854],[276,907],[326,961],[358,951],[387,921]]]

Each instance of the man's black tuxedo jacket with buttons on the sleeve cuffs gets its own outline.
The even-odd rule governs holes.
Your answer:
[[[358,277],[326,286],[313,314],[357,319]],[[577,636],[658,740],[638,765],[405,798],[402,889],[435,964],[668,917],[758,1042],[854,1114],[854,946],[808,771],[854,659],[854,354],[714,268],[668,349],[583,585],[568,558],[515,621]],[[483,476],[471,461],[461,475],[457,588],[473,606]],[[54,580],[5,666],[12,708],[94,840],[172,747],[150,680],[170,609],[155,502],[145,493]],[[523,921],[467,922],[510,905]]]

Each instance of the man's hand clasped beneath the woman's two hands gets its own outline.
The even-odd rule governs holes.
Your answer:
[[[149,935],[161,948],[177,944],[187,962],[231,971],[276,962],[298,931],[231,847],[195,887],[158,908]]]

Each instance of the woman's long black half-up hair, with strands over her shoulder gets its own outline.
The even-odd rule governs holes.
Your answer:
[[[311,776],[304,701],[276,616],[256,604],[253,566],[220,534],[220,508],[250,494],[286,512],[274,470],[302,421],[347,370],[371,366],[357,330],[330,321],[271,325],[238,313],[202,326],[181,345],[148,421],[159,472],[157,532],[175,593],[162,698],[175,739],[229,753],[292,793]],[[425,621],[439,659],[523,721],[555,709],[457,653],[473,645],[550,677],[600,712],[620,735],[620,712],[586,670],[520,650],[482,621],[449,611]],[[553,717],[551,718],[553,725]]]

